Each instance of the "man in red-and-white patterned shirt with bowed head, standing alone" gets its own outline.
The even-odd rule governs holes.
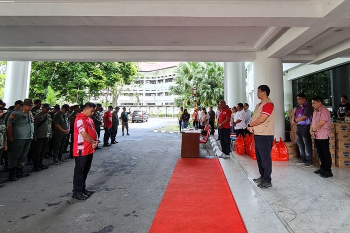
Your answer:
[[[94,103],[86,103],[74,122],[73,156],[75,168],[73,176],[73,198],[85,200],[93,191],[86,189],[86,177],[90,171],[93,152],[98,145],[98,138],[91,116],[95,111]]]

